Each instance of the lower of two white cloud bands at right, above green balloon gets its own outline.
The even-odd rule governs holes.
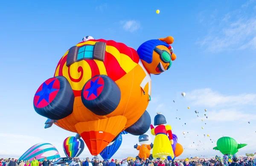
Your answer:
[[[207,113],[208,119],[212,121],[236,121],[248,122],[250,120],[256,120],[256,114],[247,114],[236,109],[221,109],[220,111],[211,111]]]

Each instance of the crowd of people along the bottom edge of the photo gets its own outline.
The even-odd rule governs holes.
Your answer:
[[[253,158],[239,157],[238,155],[233,155],[233,162],[225,162],[215,160],[215,159],[192,159],[189,160],[90,160],[87,157],[85,160],[81,161],[78,157],[72,158],[71,163],[67,163],[68,166],[256,166]],[[0,166],[50,166],[51,162],[45,157],[43,161],[36,160],[34,157],[32,161],[14,160],[14,158],[9,158],[8,160],[0,159]]]

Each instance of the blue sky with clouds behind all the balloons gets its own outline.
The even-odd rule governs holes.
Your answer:
[[[146,40],[173,36],[177,59],[168,72],[151,77],[151,119],[158,111],[166,116],[185,148],[180,157],[219,155],[211,149],[222,135],[248,144],[239,155],[254,153],[255,15],[255,0],[1,3],[0,156],[19,157],[39,142],[52,143],[64,156],[62,142],[75,134],[57,126],[44,129],[46,118],[34,111],[32,100],[41,83],[53,76],[61,56],[87,35],[134,49]],[[123,141],[113,158],[136,156],[138,137],[125,135]],[[81,158],[87,156],[85,149]]]

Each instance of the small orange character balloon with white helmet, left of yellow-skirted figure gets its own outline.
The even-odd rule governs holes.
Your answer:
[[[139,137],[140,145],[134,145],[134,148],[139,150],[139,155],[137,156],[140,160],[149,160],[153,159],[153,156],[150,154],[150,150],[153,148],[151,142],[151,137],[148,134],[140,135]]]

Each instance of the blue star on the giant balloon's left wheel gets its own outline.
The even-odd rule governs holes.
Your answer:
[[[42,101],[42,100],[46,100],[47,103],[49,103],[49,96],[52,92],[55,92],[59,89],[54,89],[52,88],[53,84],[54,84],[55,80],[52,80],[52,82],[50,82],[48,85],[44,82],[43,83],[43,87],[42,90],[37,92],[35,94],[35,96],[40,96],[38,99],[38,103],[37,105]]]

